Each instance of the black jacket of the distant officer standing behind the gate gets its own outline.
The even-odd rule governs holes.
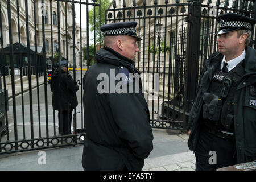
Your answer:
[[[79,86],[71,75],[60,69],[53,72],[51,81],[52,107],[54,110],[72,110],[77,105],[76,91]]]

